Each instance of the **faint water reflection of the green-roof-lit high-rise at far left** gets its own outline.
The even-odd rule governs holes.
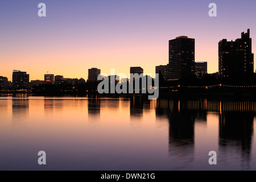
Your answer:
[[[14,128],[27,127],[29,117],[29,100],[26,97],[12,100],[12,126]]]

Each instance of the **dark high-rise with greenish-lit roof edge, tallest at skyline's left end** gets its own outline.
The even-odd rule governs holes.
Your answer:
[[[14,88],[18,89],[25,89],[27,88],[30,81],[30,75],[27,72],[22,72],[19,70],[13,71],[13,86]]]

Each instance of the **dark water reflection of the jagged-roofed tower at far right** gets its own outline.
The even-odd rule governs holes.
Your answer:
[[[242,169],[250,167],[253,113],[222,113],[219,117],[219,150],[223,160],[240,154]]]

